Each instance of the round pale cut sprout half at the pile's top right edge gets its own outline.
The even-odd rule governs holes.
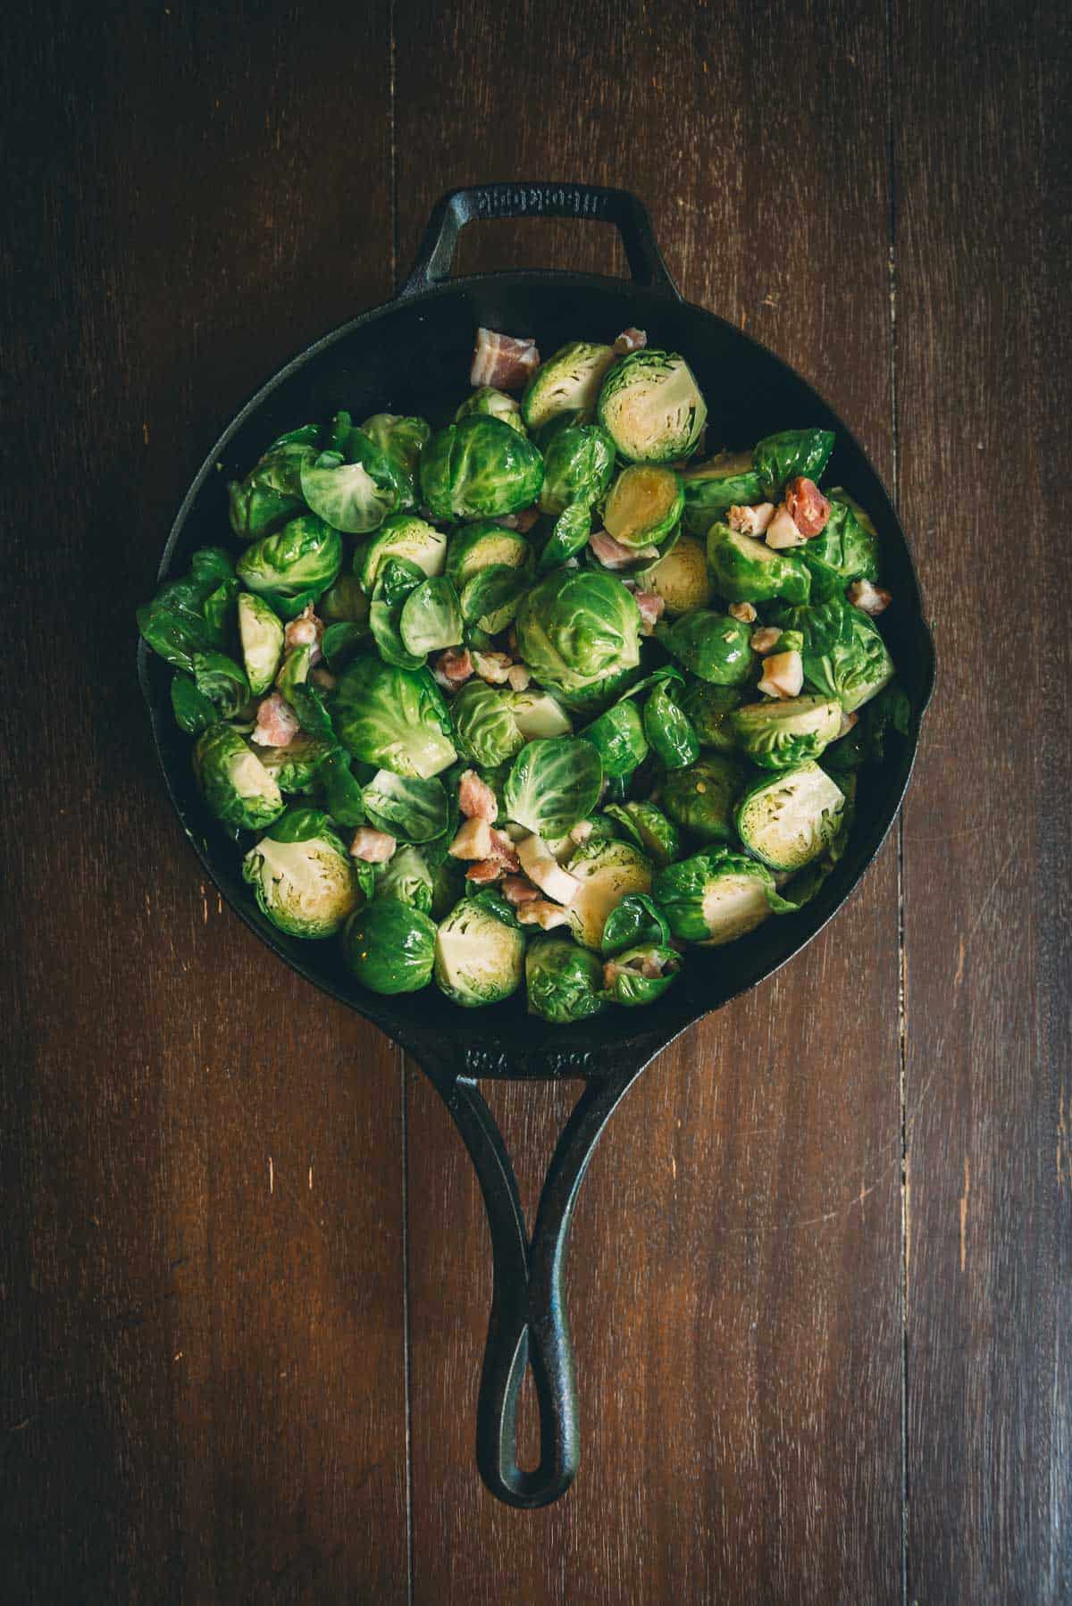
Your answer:
[[[608,371],[596,416],[630,463],[670,463],[696,446],[707,405],[683,357],[644,350]]]

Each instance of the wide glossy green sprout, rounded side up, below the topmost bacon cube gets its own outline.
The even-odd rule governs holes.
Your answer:
[[[432,435],[421,453],[421,495],[439,519],[495,519],[530,507],[543,458],[497,418],[466,418]]]

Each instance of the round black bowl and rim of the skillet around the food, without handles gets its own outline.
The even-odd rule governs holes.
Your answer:
[[[911,557],[889,498],[865,453],[831,408],[773,353],[702,308],[628,281],[553,273],[508,273],[460,279],[357,318],[284,368],[235,419],[206,461],[178,514],[161,578],[183,573],[198,546],[228,543],[227,480],[241,475],[284,429],[325,419],[338,408],[355,418],[376,411],[421,413],[442,422],[468,387],[477,324],[534,334],[551,352],[569,339],[612,340],[627,324],[649,342],[680,350],[693,365],[710,408],[707,442],[749,446],[776,429],[820,424],[837,430],[828,472],[873,516],[895,607],[882,617],[900,678],[911,697],[914,728],[881,769],[861,772],[857,821],[845,858],[816,899],[794,915],[768,920],[728,948],[693,949],[681,980],[643,1010],[611,1009],[593,1021],[556,1028],[518,1001],[461,1010],[436,988],[379,997],[349,976],[336,941],[302,943],[276,931],[241,882],[243,850],[209,816],[190,768],[190,739],[174,724],[170,670],[145,647],[141,684],[167,784],[186,835],[223,896],[268,946],[310,981],[374,1020],[426,1063],[464,1057],[479,1074],[569,1074],[644,1063],[689,1021],[768,976],[797,952],[844,903],[871,862],[902,800],[918,723],[931,695],[934,655],[921,617]],[[219,464],[219,467],[217,467]]]

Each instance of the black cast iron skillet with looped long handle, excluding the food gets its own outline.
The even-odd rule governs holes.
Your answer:
[[[473,218],[511,217],[614,223],[632,278],[540,271],[448,279],[460,230]],[[569,1487],[580,1453],[563,1277],[571,1216],[599,1134],[661,1049],[691,1021],[778,970],[849,898],[908,785],[934,683],[934,647],[908,543],[882,482],[850,432],[771,352],[681,300],[640,201],[624,190],[590,185],[481,185],[444,196],[399,297],[317,340],[270,379],[223,432],[178,511],[159,578],[183,573],[194,548],[225,538],[227,480],[244,474],[284,429],[329,418],[342,406],[355,418],[389,410],[445,422],[466,392],[477,324],[534,334],[543,353],[571,339],[612,340],[628,324],[648,329],[653,345],[683,352],[691,363],[710,406],[712,443],[749,446],[776,429],[834,429],[837,446],[828,480],[845,485],[878,525],[884,573],[895,597],[882,630],[913,707],[908,739],[894,744],[884,768],[863,771],[850,848],[812,904],[768,920],[728,948],[691,951],[680,981],[648,1009],[611,1009],[596,1020],[556,1028],[527,1015],[516,999],[463,1012],[436,988],[379,997],[349,976],[339,944],[302,943],[276,931],[241,882],[241,850],[198,795],[190,740],[170,711],[170,671],[140,647],[138,676],[164,777],[203,866],[268,948],[419,1060],[464,1139],[484,1193],[495,1266],[477,1404],[477,1465],[500,1500],[540,1506]],[[476,1086],[485,1076],[583,1082],[554,1150],[530,1237],[509,1156]],[[518,1396],[526,1365],[532,1367],[540,1405],[540,1463],[532,1471],[518,1465]]]

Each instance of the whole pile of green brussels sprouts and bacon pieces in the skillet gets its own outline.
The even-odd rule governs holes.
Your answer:
[[[138,610],[264,915],[376,993],[649,1004],[815,895],[908,729],[833,434],[704,459],[686,360],[627,334],[439,429],[281,435]]]

